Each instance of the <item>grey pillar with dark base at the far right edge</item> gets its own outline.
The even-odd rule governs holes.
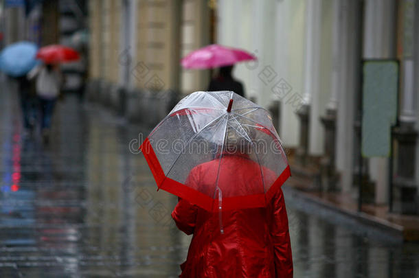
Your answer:
[[[416,141],[418,132],[416,130],[416,105],[415,105],[415,60],[414,39],[418,33],[418,13],[416,13],[418,1],[404,0],[402,2],[403,23],[401,30],[403,54],[401,57],[401,78],[402,97],[401,111],[398,117],[399,125],[394,128],[394,137],[397,142],[396,174],[394,175],[394,211],[400,213],[418,213],[419,198],[416,185]],[[415,14],[416,13],[416,14]],[[416,45],[416,47],[418,47]],[[417,67],[417,66],[416,66]]]

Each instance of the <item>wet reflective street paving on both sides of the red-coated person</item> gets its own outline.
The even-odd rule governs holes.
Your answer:
[[[128,147],[148,130],[69,95],[45,146],[23,137],[12,84],[0,87],[0,277],[177,277],[190,242],[170,218],[177,198]],[[418,244],[287,202],[295,277],[419,277]]]

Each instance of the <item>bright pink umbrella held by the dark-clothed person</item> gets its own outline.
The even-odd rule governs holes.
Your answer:
[[[208,45],[192,51],[181,60],[181,64],[185,69],[212,69],[247,60],[256,60],[256,57],[242,49]]]

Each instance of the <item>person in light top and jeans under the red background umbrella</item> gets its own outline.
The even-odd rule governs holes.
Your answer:
[[[62,76],[58,64],[45,64],[32,69],[27,74],[29,79],[36,76],[36,95],[39,102],[41,132],[45,143],[49,140],[52,114],[58,95]]]

